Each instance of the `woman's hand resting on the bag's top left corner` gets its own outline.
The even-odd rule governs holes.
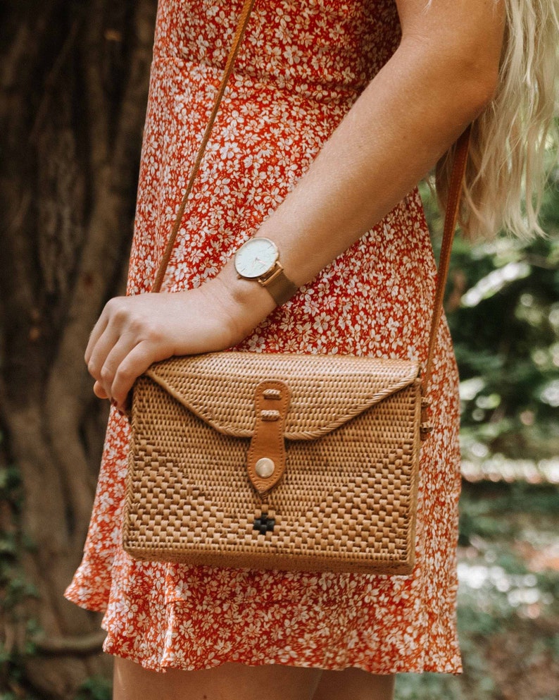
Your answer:
[[[134,380],[152,362],[239,343],[250,331],[236,322],[239,314],[219,276],[185,292],[111,299],[85,351],[94,393],[124,410]]]

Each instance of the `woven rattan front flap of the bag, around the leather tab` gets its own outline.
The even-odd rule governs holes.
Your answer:
[[[171,357],[145,373],[215,430],[251,437],[256,387],[281,379],[291,400],[285,425],[290,440],[332,431],[417,380],[417,362],[351,355],[213,352]]]

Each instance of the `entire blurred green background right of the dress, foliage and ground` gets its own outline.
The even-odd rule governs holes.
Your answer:
[[[550,481],[559,474],[559,168],[548,185],[546,238],[472,244],[458,235],[453,247],[446,315],[460,370],[463,458],[512,483],[465,484],[461,498],[464,675],[402,675],[398,700],[557,698],[559,491],[505,473],[546,462]],[[427,185],[422,197],[437,249],[442,221]]]

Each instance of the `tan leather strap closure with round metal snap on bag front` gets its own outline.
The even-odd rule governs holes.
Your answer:
[[[256,423],[246,469],[259,496],[265,496],[285,472],[284,429],[289,408],[289,388],[283,381],[265,379],[256,387]]]

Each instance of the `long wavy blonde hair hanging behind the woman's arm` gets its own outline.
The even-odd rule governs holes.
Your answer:
[[[498,0],[496,0],[498,1]],[[460,223],[469,238],[501,230],[543,235],[541,198],[557,154],[558,0],[504,0],[507,22],[496,94],[472,124]],[[452,153],[436,167],[446,202]]]

